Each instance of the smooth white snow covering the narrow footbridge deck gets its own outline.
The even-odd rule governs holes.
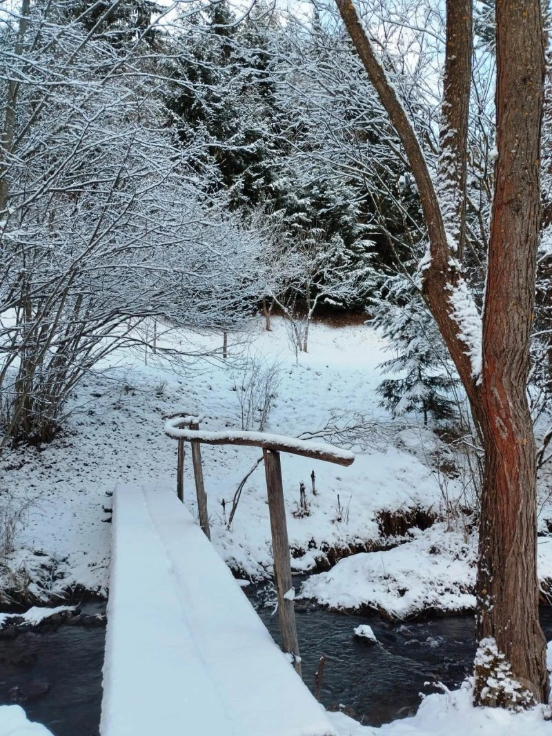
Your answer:
[[[322,707],[169,489],[121,486],[102,736],[333,736]]]

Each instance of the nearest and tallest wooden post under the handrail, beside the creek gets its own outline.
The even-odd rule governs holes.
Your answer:
[[[272,532],[272,554],[274,556],[274,577],[278,595],[278,618],[282,634],[283,651],[293,656],[293,665],[301,675],[299,640],[295,626],[293,598],[286,593],[293,589],[291,580],[291,558],[289,554],[286,507],[283,502],[282,466],[280,453],[263,449],[266,492],[269,499],[270,531]]]

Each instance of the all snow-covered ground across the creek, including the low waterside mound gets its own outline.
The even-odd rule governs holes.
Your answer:
[[[222,346],[218,334],[177,340],[188,350]],[[431,470],[439,449],[436,436],[411,420],[393,422],[378,406],[375,389],[381,381],[378,364],[387,357],[384,348],[367,325],[315,324],[309,352],[300,354],[296,365],[283,321],[274,319],[273,331],[267,333],[263,320],[255,319],[247,339],[240,336],[237,344],[230,340],[228,361],[194,358],[179,366],[150,354],[146,365],[144,354],[113,355],[105,370],[79,386],[63,434],[50,445],[9,451],[1,460],[1,486],[10,489],[11,497],[4,518],[21,517],[2,570],[2,589],[29,592],[38,601],[79,587],[105,593],[113,488],[132,481],[176,484],[177,442],[163,434],[163,414],[185,409],[203,415],[206,431],[241,429],[236,385],[247,355],[256,355],[261,363],[275,366],[279,380],[267,426],[271,433],[300,436],[329,420],[340,426],[359,421],[369,425],[363,445],[353,447],[356,457],[350,467],[283,455],[294,569],[323,570],[336,557],[364,552],[312,577],[303,595],[335,607],[370,606],[394,616],[427,607],[470,608],[476,543],[460,523],[449,531],[444,523],[426,531],[413,528],[400,539],[405,545],[371,552],[393,541],[382,538],[380,512],[422,509],[439,514],[445,491],[449,500],[461,493],[460,484],[450,478],[444,489],[442,475]],[[261,451],[204,445],[202,455],[216,549],[241,577],[269,576],[262,464],[244,486],[230,530],[224,523],[236,487]],[[185,503],[197,516],[189,453],[185,465]],[[311,491],[313,470],[316,495]],[[301,482],[308,515],[299,509]],[[541,542],[541,575],[552,578],[552,540],[543,537]]]

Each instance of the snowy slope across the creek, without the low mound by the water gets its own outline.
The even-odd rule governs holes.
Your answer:
[[[292,436],[316,431],[332,412],[342,423],[357,412],[382,417],[375,388],[383,346],[371,329],[315,325],[310,352],[300,355],[298,366],[280,320],[274,320],[272,333],[263,331],[261,321],[252,331],[252,342],[230,347],[230,353],[231,358],[260,354],[277,364],[281,380],[270,431]],[[188,337],[198,350],[222,342],[219,335]],[[175,483],[177,443],[163,434],[163,414],[185,407],[204,415],[206,430],[241,429],[233,390],[235,377],[240,381],[241,375],[228,361],[194,360],[171,367],[166,361],[152,364],[149,355],[146,366],[144,355],[119,354],[111,363],[79,386],[66,430],[52,444],[8,452],[2,459],[2,485],[15,498],[11,512],[21,509],[22,519],[9,570],[4,570],[4,590],[20,587],[39,599],[77,586],[105,592],[108,494],[118,482]],[[376,542],[380,533],[375,514],[380,509],[439,506],[439,485],[428,467],[397,444],[400,436],[392,444],[385,434],[376,433],[373,449],[348,468],[283,456],[297,570],[313,567],[316,559],[323,559],[325,548]],[[244,576],[266,576],[272,561],[262,465],[244,488],[230,531],[222,512],[224,499],[229,514],[236,486],[260,450],[205,446],[202,453],[216,548]],[[196,514],[190,466],[187,462],[185,502]],[[308,490],[310,515],[296,518],[300,482],[310,489],[312,470],[317,495]]]

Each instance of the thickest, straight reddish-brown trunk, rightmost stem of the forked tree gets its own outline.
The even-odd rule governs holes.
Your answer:
[[[534,701],[545,702],[536,448],[526,394],[541,216],[544,40],[537,0],[498,0],[496,13],[498,161],[483,327],[478,637],[494,639],[514,678]],[[482,703],[485,687],[483,668],[476,682]]]

